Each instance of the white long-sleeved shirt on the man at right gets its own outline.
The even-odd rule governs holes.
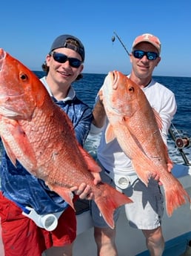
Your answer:
[[[163,122],[163,129],[161,131],[161,136],[163,137],[164,142],[167,144],[167,134],[170,128],[170,123],[172,117],[176,111],[176,102],[175,96],[172,91],[168,88],[164,87],[164,85],[155,82],[153,79],[146,88],[142,88],[144,93],[147,96],[147,99],[150,102],[152,108],[158,112],[161,116]],[[100,161],[101,165],[104,166],[110,172],[115,172],[116,174],[128,174],[134,175],[135,171],[133,170],[131,160],[124,154],[121,150],[120,145],[118,145],[118,141],[115,139],[110,143],[105,142],[104,131],[107,128],[107,122],[102,129],[101,134],[101,141],[100,145],[98,146],[98,160]],[[93,133],[96,131],[101,131],[95,129],[93,127]]]

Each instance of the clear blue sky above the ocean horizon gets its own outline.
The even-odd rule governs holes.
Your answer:
[[[0,47],[31,70],[41,64],[53,40],[64,33],[84,43],[84,73],[129,73],[127,50],[142,33],[161,40],[156,76],[191,76],[190,0],[1,1]]]

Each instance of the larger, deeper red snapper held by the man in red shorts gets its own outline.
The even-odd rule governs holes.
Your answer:
[[[16,160],[30,174],[73,207],[70,188],[89,184],[108,225],[113,212],[132,201],[105,183],[93,183],[101,171],[93,157],[78,144],[67,114],[50,98],[38,77],[0,49],[0,136],[13,165]]]

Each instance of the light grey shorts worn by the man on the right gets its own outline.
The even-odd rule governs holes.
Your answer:
[[[101,171],[101,180],[115,187],[113,180]],[[148,186],[145,186],[141,180],[135,180],[127,189],[116,189],[126,194],[127,197],[133,200],[133,203],[125,205],[127,220],[130,226],[136,229],[156,229],[161,226],[161,217],[164,213],[164,197],[161,194],[161,189],[155,180],[150,180]],[[106,228],[103,217],[94,201],[91,201],[91,214],[93,217],[94,226]],[[120,208],[115,211],[114,220],[118,219]]]

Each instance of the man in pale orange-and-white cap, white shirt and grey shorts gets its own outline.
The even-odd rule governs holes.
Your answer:
[[[132,46],[130,62],[132,71],[128,76],[133,82],[140,86],[147,96],[150,105],[161,116],[163,129],[161,135],[167,144],[167,133],[170,122],[176,111],[175,96],[172,91],[164,85],[155,82],[153,70],[161,61],[161,42],[149,33],[138,36]],[[101,98],[101,97],[100,97]],[[131,160],[124,154],[118,145],[117,140],[105,142],[105,129],[107,128],[107,118],[101,99],[96,102],[93,110],[92,132],[100,132],[101,142],[98,146],[98,161],[101,164],[101,180],[113,184],[118,190],[127,194],[133,200],[132,204],[125,206],[127,219],[130,226],[141,229],[146,237],[147,248],[152,256],[161,256],[164,251],[164,237],[161,231],[161,217],[163,215],[164,198],[161,194],[158,181],[150,179],[148,186],[145,186],[138,179]],[[124,188],[119,183],[120,178],[130,180]],[[115,229],[110,229],[100,217],[96,205],[92,202],[92,214],[95,226],[95,240],[98,247],[99,256],[117,256],[115,246]],[[119,210],[116,212],[117,220]],[[127,239],[130,234],[127,234]]]

